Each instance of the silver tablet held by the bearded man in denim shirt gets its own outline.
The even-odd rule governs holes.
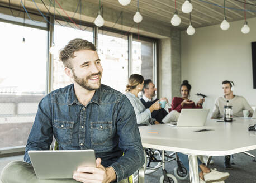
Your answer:
[[[79,166],[96,167],[94,150],[29,151],[37,179],[71,179]]]

